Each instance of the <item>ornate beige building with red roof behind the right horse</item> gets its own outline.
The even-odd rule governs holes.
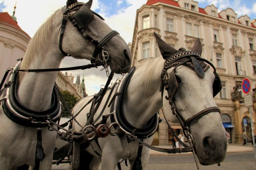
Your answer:
[[[137,10],[132,65],[140,66],[147,58],[161,57],[154,32],[176,49],[185,47],[189,50],[197,38],[201,39],[202,57],[217,67],[222,80],[222,90],[214,100],[221,109],[223,126],[231,135],[229,142],[241,143],[243,131],[251,140],[251,121],[256,134],[256,101],[251,107],[251,120],[249,107],[244,104],[242,81],[250,79],[250,94],[253,95],[256,85],[256,20],[246,14],[237,18],[230,7],[221,12],[214,5],[201,8],[193,0],[148,0]],[[180,132],[179,125],[172,126],[177,133]],[[165,123],[159,125],[155,139],[159,145],[171,143],[172,135]]]

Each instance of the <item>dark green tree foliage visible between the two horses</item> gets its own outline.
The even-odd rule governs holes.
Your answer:
[[[75,104],[78,102],[78,98],[74,96],[74,94],[71,94],[71,92],[65,90],[65,91],[61,91],[61,94],[64,98],[64,100],[66,101],[68,108],[71,110],[73,109],[73,107],[75,106]],[[62,111],[62,116],[68,116],[69,113],[67,111],[67,108],[65,107],[65,105],[63,104],[63,101],[60,98],[60,101],[64,107],[63,111]]]

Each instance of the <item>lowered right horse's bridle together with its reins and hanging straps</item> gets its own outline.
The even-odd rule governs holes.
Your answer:
[[[174,114],[175,117],[178,118],[179,123],[182,127],[182,130],[183,130],[186,138],[188,139],[188,145],[183,143],[177,137],[174,130],[171,128],[170,124],[168,123],[164,112],[163,112],[163,115],[164,115],[165,121],[166,121],[169,129],[171,130],[174,137],[179,141],[179,143],[181,143],[181,145],[184,148],[166,149],[166,148],[154,147],[154,146],[148,145],[147,143],[143,142],[143,140],[140,140],[139,138],[137,138],[136,135],[129,134],[129,136],[132,139],[134,139],[135,141],[138,141],[141,145],[146,146],[146,147],[148,147],[150,149],[153,149],[153,150],[156,150],[156,151],[166,152],[168,154],[175,154],[175,153],[181,153],[181,152],[193,152],[197,169],[199,169],[199,162],[198,162],[198,159],[196,157],[195,150],[194,150],[193,136],[189,133],[189,125],[192,122],[194,122],[195,120],[197,120],[198,118],[200,118],[200,117],[202,117],[202,116],[204,116],[208,113],[211,113],[211,112],[219,112],[220,113],[220,109],[218,107],[206,108],[203,111],[198,112],[194,116],[185,120],[181,116],[181,114],[179,113],[177,107],[175,106],[173,98],[174,98],[174,96],[175,96],[175,94],[178,90],[178,81],[177,81],[177,78],[175,77],[175,69],[180,65],[186,65],[186,66],[190,67],[191,69],[193,69],[199,75],[199,77],[204,78],[204,75],[205,75],[204,72],[207,71],[210,68],[210,66],[205,64],[204,62],[209,64],[214,70],[213,71],[213,73],[215,75],[215,79],[214,79],[214,82],[213,82],[213,97],[214,97],[215,95],[218,94],[218,92],[222,88],[220,77],[217,74],[214,65],[212,63],[210,63],[209,61],[205,60],[204,58],[202,58],[201,55],[199,55],[195,52],[187,52],[185,50],[182,50],[179,53],[176,53],[176,54],[172,55],[171,57],[169,57],[165,61],[164,68],[163,68],[163,71],[161,73],[161,87],[160,87],[159,91],[161,91],[162,99],[163,99],[164,90],[167,91],[168,96],[165,96],[165,99],[169,100],[169,104],[171,105],[171,108],[172,108],[172,113]],[[174,69],[168,75],[167,70],[170,69],[171,67],[174,67]],[[139,145],[139,146],[141,146],[141,145]],[[139,150],[141,150],[140,147],[139,147],[138,151]],[[138,152],[137,159],[140,160],[139,157],[140,157],[140,153]],[[141,164],[141,163],[139,162],[139,164]],[[218,163],[218,165],[220,166],[220,163]],[[135,165],[135,166],[138,166],[138,165]],[[133,168],[135,166],[133,166]]]

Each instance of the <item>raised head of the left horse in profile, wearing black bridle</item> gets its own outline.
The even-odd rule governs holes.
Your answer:
[[[92,0],[79,3],[68,0],[61,13],[59,46],[64,56],[86,58],[96,62],[106,60],[115,73],[130,70],[131,52],[118,32],[113,31],[103,22],[103,18],[91,11]]]

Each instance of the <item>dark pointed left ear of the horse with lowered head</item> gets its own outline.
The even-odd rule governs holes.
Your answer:
[[[170,56],[179,52],[175,48],[165,43],[161,38],[159,38],[156,32],[154,32],[154,36],[156,37],[157,45],[164,60],[167,60]]]

